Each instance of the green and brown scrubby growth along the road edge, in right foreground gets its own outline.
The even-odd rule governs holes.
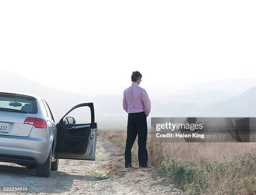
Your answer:
[[[255,155],[248,153],[224,162],[202,158],[195,163],[172,157],[159,170],[187,194],[255,194],[255,165]]]

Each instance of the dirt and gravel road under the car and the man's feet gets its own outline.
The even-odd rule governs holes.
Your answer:
[[[10,194],[181,194],[181,191],[155,168],[125,169],[124,148],[97,140],[96,161],[60,160],[59,170],[49,178],[36,177],[36,171],[0,162],[0,194],[4,187],[27,187]]]

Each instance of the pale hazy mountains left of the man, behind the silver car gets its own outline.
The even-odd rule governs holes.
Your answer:
[[[41,96],[48,102],[56,121],[59,121],[73,106],[86,102],[93,102],[95,107],[95,121],[99,127],[112,128],[111,123],[116,120],[126,123],[126,113],[122,108],[122,96],[97,95],[94,97],[82,94],[67,93],[51,87],[43,86],[37,81],[26,79],[15,73],[0,71],[0,91],[11,91]],[[86,86],[84,86],[86,88]],[[119,128],[118,123],[116,127]],[[112,124],[113,125],[113,124]]]

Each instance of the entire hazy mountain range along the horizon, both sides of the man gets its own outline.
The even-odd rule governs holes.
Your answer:
[[[100,129],[125,129],[127,114],[122,108],[122,95],[96,95],[93,97],[67,93],[43,86],[15,73],[0,71],[0,91],[35,94],[44,97],[52,109],[56,121],[76,104],[93,102],[95,121]],[[86,89],[86,86],[84,86]],[[237,86],[239,88],[239,86]],[[202,89],[203,90],[203,89]],[[100,92],[99,92],[100,93]],[[151,117],[247,117],[256,116],[256,86],[243,94],[201,91],[189,95],[151,97]],[[82,114],[81,114],[82,117]],[[150,118],[148,118],[150,124]]]

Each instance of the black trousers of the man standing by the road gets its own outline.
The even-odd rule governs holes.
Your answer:
[[[139,165],[148,164],[147,119],[144,112],[129,113],[127,123],[127,139],[125,147],[125,165],[131,164],[131,149],[138,134],[138,161]]]

